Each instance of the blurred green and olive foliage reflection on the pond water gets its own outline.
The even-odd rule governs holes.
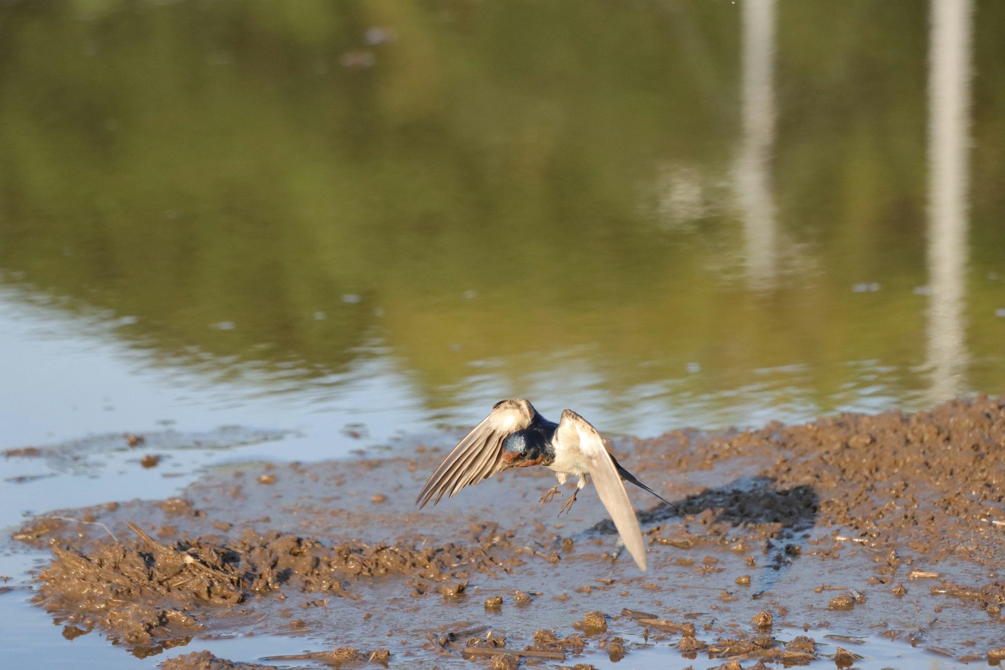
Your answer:
[[[472,362],[522,393],[570,358],[623,404],[798,365],[831,411],[868,386],[859,361],[908,398],[928,384],[927,14],[776,12],[766,290],[743,273],[725,0],[4,3],[0,267],[137,316],[120,332],[155,360],[309,380],[379,343],[430,407]],[[1003,23],[978,3],[968,384],[988,392],[1005,390]]]

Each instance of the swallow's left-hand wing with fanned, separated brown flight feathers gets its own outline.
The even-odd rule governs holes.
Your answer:
[[[502,440],[531,425],[536,414],[534,406],[521,398],[495,403],[491,414],[471,429],[429,477],[415,499],[419,508],[434,495],[436,504],[447,491],[452,498],[464,486],[498,472],[502,465]]]

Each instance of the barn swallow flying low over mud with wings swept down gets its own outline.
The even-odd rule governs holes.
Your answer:
[[[422,487],[415,503],[422,508],[436,496],[433,501],[436,504],[447,491],[452,498],[468,484],[477,483],[502,470],[532,465],[551,468],[559,480],[541,496],[539,507],[551,501],[556,494],[562,495],[559,486],[570,475],[579,477],[576,490],[562,505],[559,514],[572,508],[589,475],[621,534],[621,540],[638,569],[645,572],[642,530],[621,481],[629,481],[660,500],[663,498],[621,467],[604,448],[597,429],[572,410],[565,410],[562,419],[554,423],[538,414],[534,406],[522,398],[495,403],[491,413],[447,454]],[[669,501],[663,501],[672,506]]]

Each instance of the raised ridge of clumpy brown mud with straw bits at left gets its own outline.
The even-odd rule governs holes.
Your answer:
[[[179,506],[161,505],[173,511]],[[84,630],[97,627],[141,655],[158,646],[174,646],[176,641],[187,644],[205,628],[203,622],[213,616],[213,606],[232,608],[254,597],[260,600],[262,594],[278,593],[283,586],[318,598],[360,600],[351,591],[360,579],[398,576],[413,578],[407,585],[414,585],[413,593],[424,596],[430,590],[425,581],[452,579],[452,569],[460,565],[465,575],[500,569],[478,545],[415,548],[342,542],[326,546],[317,539],[253,530],[229,542],[218,535],[204,535],[165,544],[135,523],[128,525],[137,539],[97,542],[87,553],[73,543],[53,543],[54,559],[38,576],[41,586],[34,602],[68,615],[67,621],[82,624]],[[460,583],[436,591],[444,598],[458,598],[465,586]],[[278,596],[285,600],[281,593]],[[329,603],[325,598],[303,604],[327,608]],[[308,626],[303,619],[292,619],[288,625],[294,629]]]

